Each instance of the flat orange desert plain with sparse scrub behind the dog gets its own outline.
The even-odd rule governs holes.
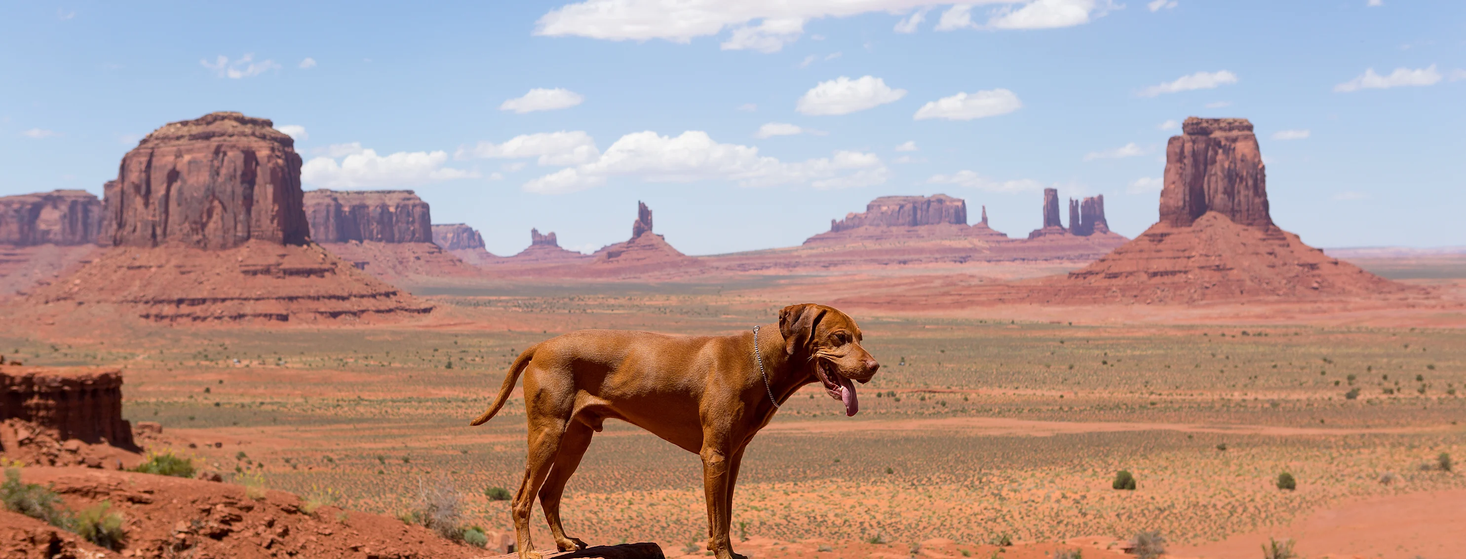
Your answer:
[[[1369,265],[1447,294],[1466,277],[1451,258]],[[485,490],[519,483],[522,399],[482,427],[468,420],[517,351],[581,328],[734,334],[815,293],[853,296],[846,274],[726,280],[438,281],[410,288],[435,310],[406,323],[89,329],[72,316],[6,328],[0,348],[28,364],[125,363],[125,417],[163,426],[152,449],[196,457],[229,481],[394,515],[421,483],[447,480],[469,522],[507,530],[509,502]],[[806,386],[755,439],[734,506],[743,553],[1047,556],[1119,549],[1146,530],[1196,558],[1253,556],[1270,536],[1308,556],[1466,546],[1466,479],[1429,468],[1441,452],[1466,457],[1460,309],[1308,320],[1311,304],[1204,319],[1075,307],[1069,320],[1048,306],[843,307],[883,369],[859,388],[856,417]],[[1136,490],[1111,489],[1119,470]],[[1296,490],[1275,486],[1284,471]],[[1319,514],[1380,499],[1431,512],[1399,530],[1309,533]],[[567,531],[592,544],[704,553],[696,457],[625,423],[595,436],[563,509]],[[535,527],[538,543],[553,541]],[[1019,546],[995,546],[1004,540]]]

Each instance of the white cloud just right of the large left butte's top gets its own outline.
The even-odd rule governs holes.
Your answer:
[[[301,181],[324,189],[381,189],[478,177],[478,173],[443,167],[449,161],[444,151],[399,151],[384,157],[355,142],[337,146],[355,146],[358,152],[340,162],[330,157],[306,161],[301,165]]]

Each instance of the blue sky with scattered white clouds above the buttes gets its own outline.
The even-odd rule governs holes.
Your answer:
[[[158,126],[298,138],[306,189],[413,189],[491,252],[798,244],[883,195],[1023,236],[1042,187],[1155,221],[1167,121],[1246,117],[1315,246],[1466,244],[1466,3],[10,1],[0,195],[101,193]],[[762,133],[761,133],[762,132]]]

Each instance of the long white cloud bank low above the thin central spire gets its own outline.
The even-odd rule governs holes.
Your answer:
[[[809,184],[841,189],[883,184],[890,170],[875,154],[837,151],[830,158],[783,162],[758,155],[758,148],[718,143],[707,132],[680,136],[636,132],[622,136],[592,162],[564,168],[523,184],[526,192],[566,193],[605,184],[608,177],[649,183],[729,180],[745,187]]]

